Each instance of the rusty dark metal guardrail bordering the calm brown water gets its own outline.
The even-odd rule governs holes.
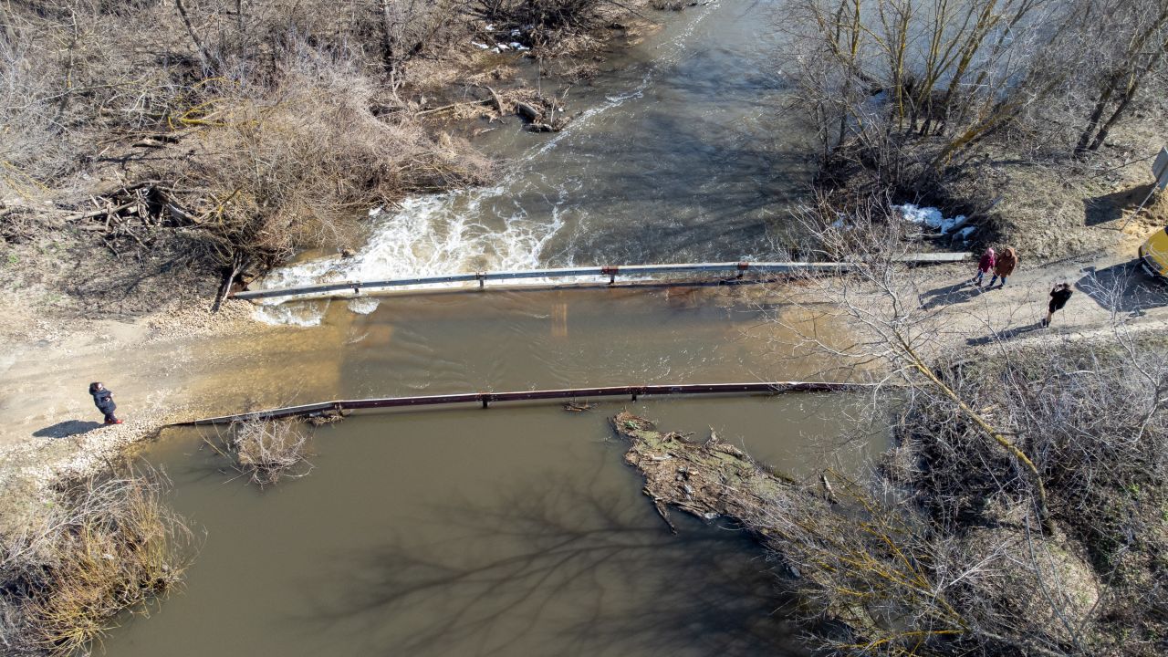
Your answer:
[[[637,401],[639,396],[658,395],[702,395],[702,394],[778,394],[778,393],[822,393],[844,392],[869,387],[867,383],[833,383],[827,381],[770,381],[749,383],[682,383],[675,386],[609,386],[600,388],[563,388],[552,390],[519,390],[509,393],[463,393],[451,395],[423,395],[409,397],[376,397],[361,400],[338,400],[303,406],[239,413],[220,417],[204,417],[190,422],[179,422],[180,426],[229,424],[248,420],[278,420],[280,417],[311,417],[360,410],[369,408],[403,408],[444,404],[480,404],[488,408],[493,402],[540,401],[557,399],[589,399],[628,396]]]

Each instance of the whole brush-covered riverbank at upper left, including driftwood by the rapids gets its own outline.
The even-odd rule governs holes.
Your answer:
[[[51,333],[210,307],[224,278],[352,250],[371,208],[494,180],[471,139],[566,125],[566,91],[659,27],[640,1],[533,16],[509,1],[382,16],[35,5],[0,13],[22,47],[0,115],[14,127],[0,134],[0,272],[20,292],[0,300],[0,334],[14,337],[35,333],[22,309]],[[40,49],[69,34],[68,53]],[[137,48],[106,42],[121,39]]]

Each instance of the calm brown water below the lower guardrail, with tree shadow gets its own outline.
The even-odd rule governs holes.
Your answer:
[[[606,402],[355,416],[264,491],[192,431],[148,458],[208,532],[186,590],[109,655],[800,655],[776,567],[731,527],[640,495],[607,417],[709,427],[809,473],[837,397]]]

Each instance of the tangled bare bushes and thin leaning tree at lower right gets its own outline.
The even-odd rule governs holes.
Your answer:
[[[790,298],[832,302],[851,341],[787,328],[877,383],[868,413],[897,444],[872,482],[836,477],[841,517],[779,499],[760,533],[811,574],[814,608],[851,629],[841,653],[1156,653],[1163,340],[1117,313],[1099,341],[1015,344],[1008,326],[927,303],[898,262],[911,227],[888,208],[806,213],[811,248],[853,268]],[[1122,296],[1092,290],[1106,292]],[[954,350],[951,336],[972,328],[990,332],[983,351]]]

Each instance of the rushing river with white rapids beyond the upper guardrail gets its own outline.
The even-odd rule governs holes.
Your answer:
[[[300,263],[265,285],[781,260],[783,220],[811,168],[806,131],[784,109],[774,11],[719,0],[653,13],[660,30],[603,62],[595,84],[571,89],[568,110],[583,113],[566,131],[533,134],[513,119],[478,143],[500,160],[495,185],[374,210],[355,258]],[[350,305],[368,312],[376,302]],[[320,310],[263,314],[314,324]]]

